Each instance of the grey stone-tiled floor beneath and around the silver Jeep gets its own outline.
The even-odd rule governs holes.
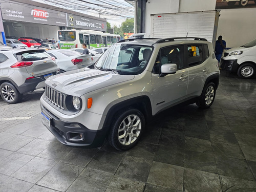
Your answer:
[[[221,72],[210,109],[158,114],[139,144],[60,144],[42,125],[44,90],[9,105],[0,98],[0,191],[256,191],[256,79]]]

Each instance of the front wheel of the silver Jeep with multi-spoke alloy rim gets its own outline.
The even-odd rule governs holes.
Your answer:
[[[145,126],[143,114],[134,108],[127,108],[117,112],[108,140],[116,150],[130,150],[139,141]]]

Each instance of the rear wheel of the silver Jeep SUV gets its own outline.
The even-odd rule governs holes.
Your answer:
[[[199,106],[199,108],[207,109],[214,102],[215,95],[216,86],[213,82],[210,82],[207,84],[207,86],[204,87],[202,95],[199,97],[196,104]]]

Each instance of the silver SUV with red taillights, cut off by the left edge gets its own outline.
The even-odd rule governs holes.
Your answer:
[[[57,71],[57,65],[45,50],[0,51],[0,95],[10,104],[17,103],[23,93],[44,88],[45,80]]]

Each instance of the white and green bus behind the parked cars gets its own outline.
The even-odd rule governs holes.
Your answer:
[[[59,49],[82,48],[86,43],[87,48],[110,47],[120,40],[120,35],[103,33],[93,30],[58,30],[57,44]]]

